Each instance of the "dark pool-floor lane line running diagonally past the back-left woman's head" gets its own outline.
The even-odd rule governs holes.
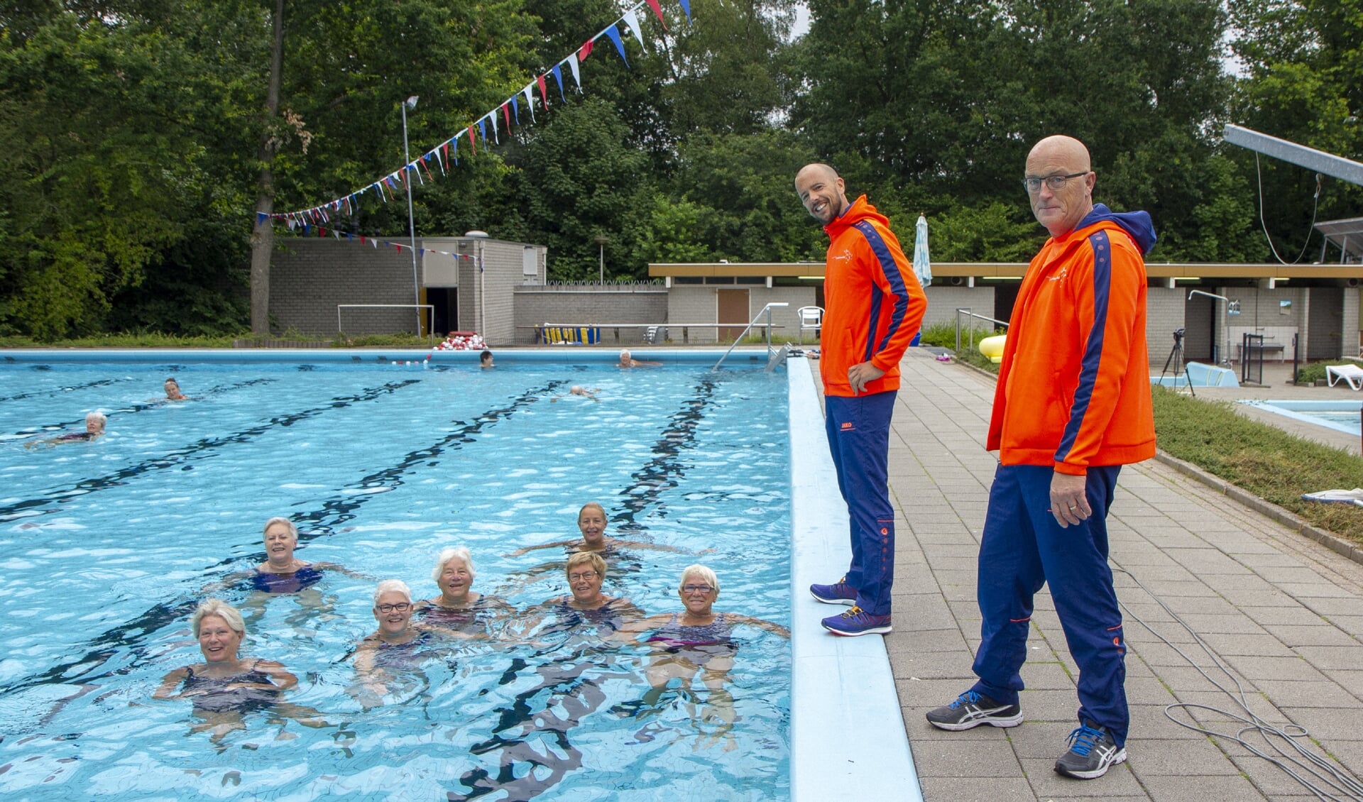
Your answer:
[[[413,384],[416,381],[418,381],[418,380],[413,379],[413,380],[401,383],[397,387],[405,387],[405,385]],[[504,419],[510,418],[515,411],[523,408],[525,406],[527,406],[530,403],[534,403],[541,396],[544,396],[548,392],[552,392],[553,389],[557,389],[559,385],[563,385],[563,384],[567,384],[567,383],[566,381],[560,381],[560,380],[555,380],[555,381],[548,383],[548,385],[545,385],[542,388],[530,389],[530,391],[527,391],[527,392],[517,396],[515,399],[512,399],[512,402],[508,406],[499,407],[499,408],[495,408],[495,410],[488,410],[488,411],[477,415],[476,418],[473,418],[473,422],[455,421],[457,423],[461,423],[461,426],[455,432],[451,432],[450,434],[447,434],[446,437],[440,438],[438,443],[435,443],[431,447],[409,452],[398,464],[395,464],[395,466],[393,466],[390,468],[384,468],[382,471],[376,471],[373,474],[369,474],[364,479],[360,479],[358,486],[361,486],[361,487],[364,487],[364,486],[372,486],[372,485],[367,485],[365,482],[372,481],[375,477],[384,477],[384,478],[388,478],[390,481],[401,483],[401,481],[399,481],[401,475],[405,471],[410,470],[417,463],[424,462],[424,460],[429,460],[433,456],[439,456],[440,453],[443,453],[444,451],[447,451],[450,447],[458,448],[458,447],[462,447],[465,443],[473,443],[473,436],[477,434],[477,433],[480,433],[480,432],[483,432],[487,426],[489,426],[492,423],[496,423],[497,421],[504,421]],[[390,384],[390,385],[384,385],[384,387],[393,387],[393,385]],[[375,396],[375,398],[378,398],[378,396]],[[327,408],[333,408],[333,407],[327,407]],[[301,419],[301,418],[297,418],[297,414],[296,415],[290,415],[290,418],[292,418],[290,422],[293,422],[296,419]],[[292,516],[292,520],[294,520],[294,522],[300,522],[300,520],[301,522],[319,522],[318,526],[323,527],[320,531],[307,531],[307,532],[300,531],[298,532],[298,541],[311,541],[311,539],[319,538],[322,535],[334,534],[334,528],[333,527],[335,527],[337,524],[341,524],[341,523],[345,523],[345,522],[353,519],[354,517],[354,511],[358,509],[358,507],[363,505],[364,501],[368,500],[372,496],[376,496],[376,494],[363,494],[363,496],[356,497],[356,498],[345,498],[345,497],[334,498],[334,500],[330,500],[330,501],[324,502],[323,507],[322,507],[322,509],[319,509],[316,512],[312,512],[312,513],[300,513],[300,515]],[[350,501],[353,504],[342,507],[339,502],[345,502],[345,501]],[[337,519],[331,520],[330,523],[320,523],[322,522],[322,516],[326,515],[327,512],[338,513]],[[251,560],[254,562],[262,562],[264,560],[264,556],[263,554],[260,554],[260,556],[252,554],[252,556],[248,556],[248,557],[236,557],[236,558],[230,558],[230,560],[224,560],[224,561],[218,562],[217,565],[210,566],[210,571],[213,568],[230,566],[230,565],[239,564],[239,562],[241,562],[244,560]],[[91,645],[89,647],[89,651],[83,656],[80,656],[79,659],[74,659],[74,660],[67,660],[67,662],[59,663],[57,666],[53,666],[53,667],[48,669],[42,674],[37,674],[37,675],[29,677],[27,679],[20,679],[20,681],[18,681],[15,684],[11,684],[11,685],[0,686],[0,694],[12,693],[12,692],[16,692],[16,690],[23,690],[23,689],[33,688],[35,685],[44,685],[44,684],[48,684],[48,682],[68,684],[68,682],[74,682],[76,679],[80,679],[82,682],[93,682],[95,679],[101,679],[101,678],[109,677],[112,674],[124,674],[127,671],[131,671],[132,669],[135,669],[135,667],[138,667],[140,664],[140,660],[138,659],[139,655],[131,655],[129,654],[129,656],[132,656],[134,659],[127,666],[121,666],[119,669],[113,669],[113,670],[106,671],[104,674],[97,674],[94,677],[90,675],[90,671],[94,671],[95,669],[102,667],[105,663],[108,663],[108,660],[110,658],[117,656],[120,648],[127,647],[131,651],[131,648],[134,645],[136,645],[143,639],[143,636],[151,635],[151,633],[159,630],[161,628],[166,626],[168,624],[173,624],[176,621],[184,620],[187,615],[189,615],[191,613],[194,613],[195,607],[199,606],[200,600],[202,600],[200,595],[195,594],[192,596],[181,596],[181,598],[179,598],[179,599],[170,602],[170,603],[157,605],[155,607],[147,610],[146,613],[142,613],[140,615],[138,615],[132,621],[129,621],[127,624],[121,624],[121,625],[114,626],[112,629],[106,629],[105,632],[102,632],[101,635],[95,636],[94,639],[87,640],[86,643],[90,643]],[[68,671],[72,671],[72,670],[76,670],[76,669],[79,669],[79,671],[68,675]]]

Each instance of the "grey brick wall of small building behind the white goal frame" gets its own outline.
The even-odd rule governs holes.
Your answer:
[[[348,334],[416,331],[412,255],[337,240],[286,240],[270,260],[270,328],[334,335],[337,304],[406,304],[405,309],[345,309]]]

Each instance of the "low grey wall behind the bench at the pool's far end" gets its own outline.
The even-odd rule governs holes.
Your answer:
[[[545,323],[590,325],[597,323],[664,324],[668,320],[668,290],[656,283],[600,285],[556,283],[521,286],[514,290],[515,343],[534,342],[533,325]],[[622,328],[620,344],[643,342],[645,330]],[[615,331],[604,330],[607,343]],[[676,332],[680,339],[682,332]]]

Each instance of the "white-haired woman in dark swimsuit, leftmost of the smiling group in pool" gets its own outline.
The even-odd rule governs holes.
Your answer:
[[[282,663],[240,656],[247,626],[232,605],[209,599],[194,611],[189,625],[204,662],[170,671],[151,696],[192,700],[202,719],[195,733],[211,730],[211,741],[218,742],[232,730],[245,728],[244,716],[255,711],[269,711],[274,722],[289,718],[308,727],[328,726],[318,711],[281,701],[284,692],[298,684]]]

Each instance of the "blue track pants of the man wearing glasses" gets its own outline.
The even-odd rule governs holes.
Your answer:
[[[1126,636],[1108,566],[1107,513],[1120,466],[1090,467],[1086,496],[1093,511],[1060,528],[1051,515],[1050,466],[999,466],[980,539],[979,600],[984,618],[973,690],[1017,704],[1026,660],[1032,596],[1051,586],[1070,655],[1079,666],[1079,720],[1108,728],[1126,743]]]

